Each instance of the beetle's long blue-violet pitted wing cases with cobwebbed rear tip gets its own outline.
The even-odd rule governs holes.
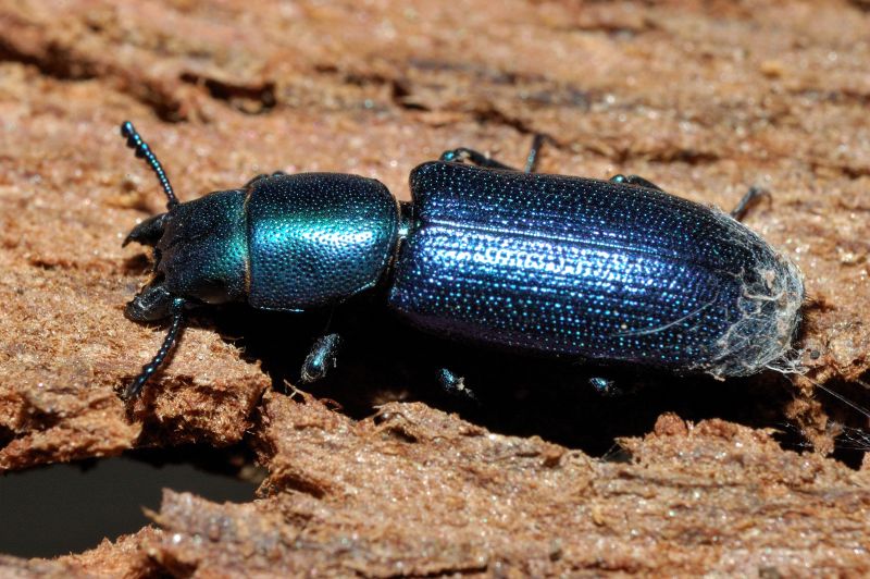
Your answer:
[[[790,348],[799,272],[721,211],[624,184],[430,162],[389,305],[427,332],[717,377]]]

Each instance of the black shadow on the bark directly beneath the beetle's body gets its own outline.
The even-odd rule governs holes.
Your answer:
[[[539,435],[606,456],[620,436],[641,436],[667,411],[687,420],[721,418],[756,428],[787,423],[783,409],[794,392],[787,379],[768,372],[753,379],[717,381],[674,377],[642,367],[595,368],[488,352],[421,334],[402,324],[383,301],[357,300],[332,318],[330,332],[344,338],[338,368],[315,384],[299,384],[311,344],[326,330],[328,312],[275,313],[233,308],[210,318],[225,336],[260,360],[273,386],[295,384],[341,411],[362,418],[388,401],[420,401],[494,432]],[[445,392],[437,370],[464,377],[476,402]],[[601,393],[589,383],[604,377]],[[800,448],[799,435],[782,429],[785,447]]]

